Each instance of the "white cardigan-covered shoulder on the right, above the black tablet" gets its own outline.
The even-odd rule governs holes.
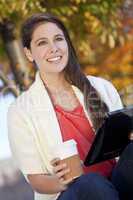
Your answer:
[[[87,76],[92,86],[97,90],[101,99],[109,106],[109,110],[117,110],[123,107],[119,93],[114,85],[101,77]]]

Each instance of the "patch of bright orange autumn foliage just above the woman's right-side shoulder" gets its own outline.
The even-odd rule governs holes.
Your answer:
[[[85,73],[111,80],[118,90],[132,86],[133,94],[133,44],[126,43],[123,47],[115,49],[101,65],[87,66]],[[130,100],[128,96],[128,101],[125,94],[123,98],[126,99],[126,103],[131,102],[131,95]]]

